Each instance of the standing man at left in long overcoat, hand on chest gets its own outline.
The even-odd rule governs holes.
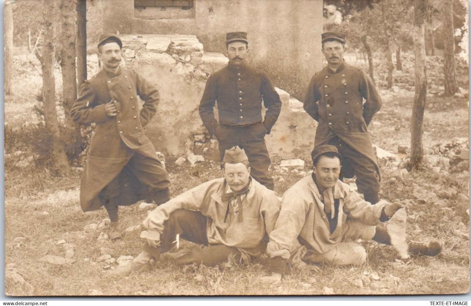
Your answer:
[[[121,67],[121,39],[103,34],[98,58],[103,68],[81,86],[71,110],[73,121],[96,124],[84,168],[80,204],[84,212],[105,206],[111,239],[122,236],[118,205],[170,199],[169,177],[143,126],[154,117],[159,92],[134,71]],[[138,97],[144,101],[139,110]]]

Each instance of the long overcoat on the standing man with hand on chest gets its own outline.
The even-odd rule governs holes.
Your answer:
[[[138,97],[144,101],[141,110]],[[135,152],[160,163],[143,129],[159,100],[153,84],[124,68],[117,74],[102,70],[81,86],[71,117],[79,124],[96,124],[81,180],[83,211],[97,210],[110,198],[128,205],[149,197],[148,188],[125,165]],[[105,104],[110,101],[116,106],[116,117],[106,115]]]

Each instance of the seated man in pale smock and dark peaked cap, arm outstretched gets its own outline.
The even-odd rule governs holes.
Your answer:
[[[391,244],[393,237],[398,239],[387,231],[388,227],[378,225],[388,221],[404,207],[403,204],[380,201],[372,205],[340,181],[341,155],[334,146],[319,146],[312,151],[311,157],[314,165],[312,175],[301,179],[284,193],[280,214],[275,229],[269,234],[267,246],[271,275],[262,277],[261,282],[279,282],[290,259],[300,266],[324,262],[363,264],[365,248],[346,239],[361,238],[384,244]],[[435,256],[442,248],[438,241],[406,243],[405,237],[403,240],[406,252],[410,253]],[[298,259],[297,263],[295,259]],[[319,271],[316,266],[306,267]]]

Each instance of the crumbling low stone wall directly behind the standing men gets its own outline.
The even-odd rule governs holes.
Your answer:
[[[161,94],[157,115],[146,126],[155,147],[172,157],[202,154],[217,159],[217,142],[210,139],[198,105],[211,73],[227,65],[219,53],[203,52],[194,35],[122,35],[123,65],[154,83]],[[315,121],[302,104],[278,89],[282,110],[267,146],[271,157],[308,158],[314,144]],[[217,110],[216,110],[217,113]]]

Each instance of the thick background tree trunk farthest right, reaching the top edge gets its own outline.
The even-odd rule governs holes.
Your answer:
[[[458,92],[455,68],[455,29],[453,27],[453,1],[443,2],[443,62],[445,69],[445,96]]]

